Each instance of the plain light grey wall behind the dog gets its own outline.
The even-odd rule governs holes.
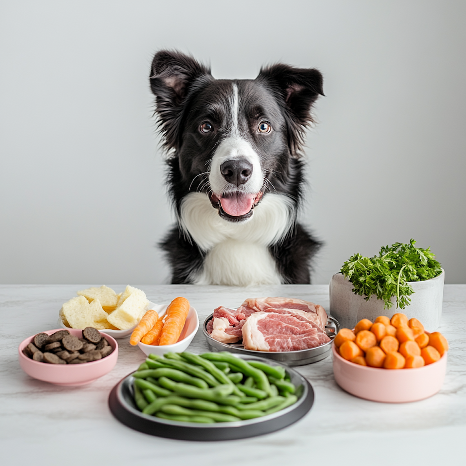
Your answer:
[[[217,78],[317,67],[302,220],[349,255],[418,240],[466,282],[464,1],[2,1],[0,282],[162,283],[160,48]]]

